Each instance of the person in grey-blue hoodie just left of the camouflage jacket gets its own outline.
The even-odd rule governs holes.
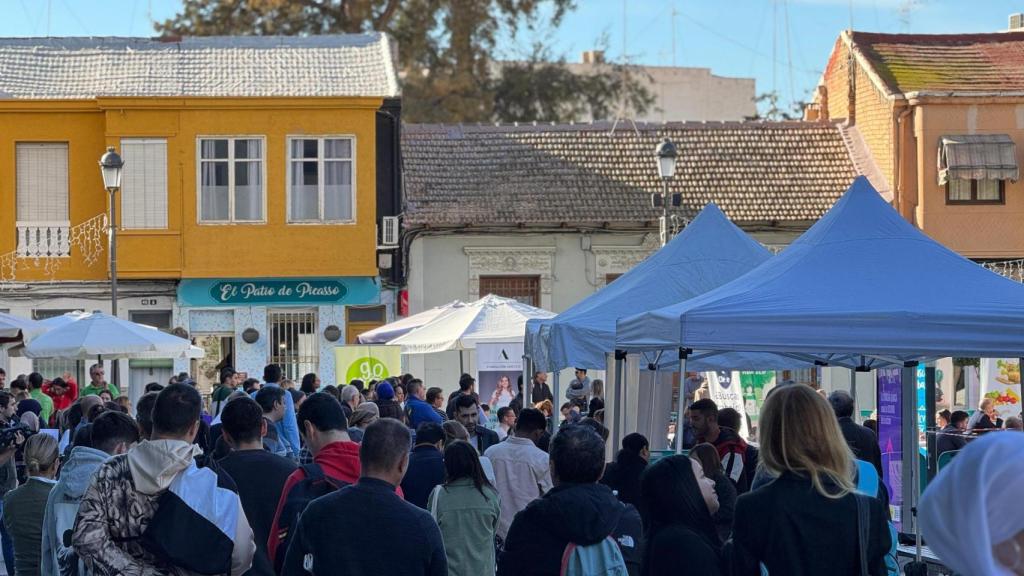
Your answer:
[[[43,515],[42,576],[85,574],[65,535],[75,528],[75,517],[92,476],[111,456],[124,454],[139,440],[138,426],[127,414],[104,412],[91,424],[92,446],[76,446],[60,466],[60,480],[50,491]]]

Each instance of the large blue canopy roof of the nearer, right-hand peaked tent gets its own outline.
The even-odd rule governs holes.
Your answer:
[[[879,366],[1016,358],[1024,355],[1022,326],[1024,285],[928,238],[858,177],[821,220],[758,269],[621,319],[616,346]]]

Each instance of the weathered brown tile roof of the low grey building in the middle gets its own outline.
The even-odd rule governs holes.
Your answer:
[[[670,190],[695,214],[715,201],[735,221],[821,216],[856,175],[828,123],[733,122],[541,126],[407,124],[408,225],[656,220],[653,158],[663,137],[680,159]]]

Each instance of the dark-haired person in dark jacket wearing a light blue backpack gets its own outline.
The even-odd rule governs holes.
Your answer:
[[[590,426],[569,425],[551,439],[550,455],[554,488],[515,515],[499,576],[638,574],[640,513],[598,483],[604,441]]]

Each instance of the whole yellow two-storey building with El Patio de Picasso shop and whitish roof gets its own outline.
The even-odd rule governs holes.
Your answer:
[[[110,310],[97,161],[113,147],[119,315],[207,349],[193,366],[122,362],[121,385],[212,381],[218,364],[258,378],[271,362],[335,381],[346,327],[385,318],[398,95],[381,34],[0,40],[0,310]]]

